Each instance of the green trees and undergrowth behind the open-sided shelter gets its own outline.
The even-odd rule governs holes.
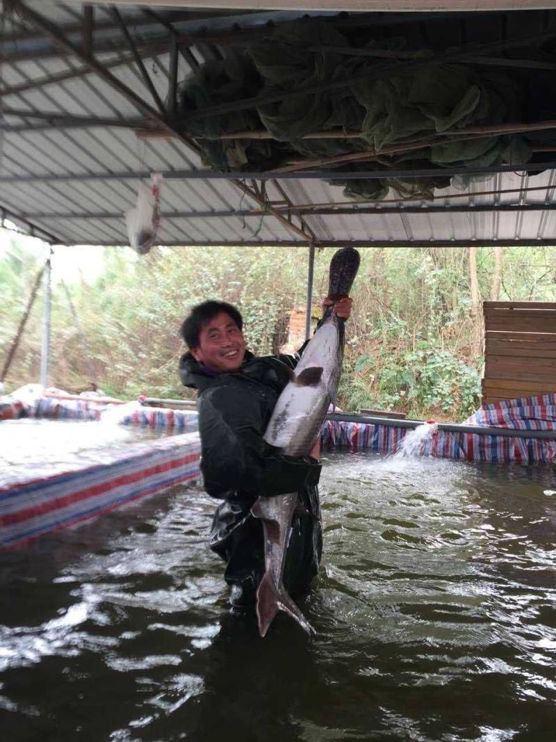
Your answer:
[[[317,251],[315,303],[326,294],[333,252]],[[44,257],[44,248],[20,237],[0,253],[0,363]],[[480,326],[471,317],[468,251],[369,249],[361,257],[339,406],[465,418],[480,401],[483,362]],[[555,301],[555,258],[556,249],[505,249],[500,299]],[[70,391],[96,382],[122,398],[191,396],[177,374],[185,351],[179,326],[191,306],[209,298],[235,303],[248,347],[261,355],[277,350],[288,313],[305,303],[302,249],[159,248],[139,258],[130,249],[99,248],[95,267],[98,278],[89,278],[85,265],[81,280],[68,285],[77,324],[54,275],[50,378]],[[480,294],[490,298],[491,249],[479,249],[477,268]],[[38,378],[41,315],[39,292],[8,388]]]

